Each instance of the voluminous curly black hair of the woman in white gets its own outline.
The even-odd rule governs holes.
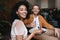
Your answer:
[[[18,10],[19,6],[25,5],[27,8],[27,12],[29,11],[29,3],[27,1],[19,1],[17,2],[13,8],[12,8],[12,14],[11,14],[11,23],[14,21],[14,19],[20,19],[18,15],[16,14],[16,11]],[[28,16],[28,13],[27,13]],[[27,18],[27,17],[26,17]]]

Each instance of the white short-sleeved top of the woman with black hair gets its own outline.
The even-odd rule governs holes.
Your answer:
[[[11,40],[16,40],[16,35],[22,35],[23,39],[25,39],[27,37],[27,28],[25,27],[24,23],[23,26],[20,27],[19,30],[16,29],[16,23],[20,21],[18,19],[15,19],[15,21],[12,24],[12,28],[11,28]]]

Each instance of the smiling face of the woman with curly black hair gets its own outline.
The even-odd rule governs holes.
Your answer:
[[[16,11],[16,14],[21,18],[26,18],[27,15],[27,8],[25,5],[21,5],[18,8],[18,11]]]

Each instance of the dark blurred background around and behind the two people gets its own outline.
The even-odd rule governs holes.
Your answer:
[[[28,1],[30,7],[38,4],[48,23],[60,28],[60,0],[0,0],[0,40],[8,40],[11,28],[11,10],[18,1]]]

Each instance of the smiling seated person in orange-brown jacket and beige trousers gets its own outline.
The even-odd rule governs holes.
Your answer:
[[[41,35],[36,35],[35,39],[43,39],[43,40],[58,40],[59,31],[54,26],[47,23],[47,21],[41,16],[40,8],[38,5],[33,5],[32,13],[30,14],[30,18],[26,19],[24,23],[26,24],[29,30],[29,33],[32,33],[36,30],[41,30]],[[27,22],[26,22],[27,21]],[[45,28],[43,28],[45,27]],[[58,37],[58,38],[57,38]]]

